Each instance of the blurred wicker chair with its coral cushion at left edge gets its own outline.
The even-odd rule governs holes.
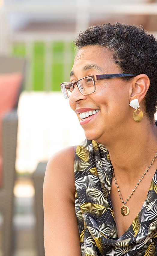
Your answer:
[[[24,79],[25,63],[26,61],[23,58],[0,56],[0,92],[2,93],[0,104],[0,148],[2,149],[2,154],[0,155],[2,167],[0,211],[3,216],[2,252],[4,256],[13,256],[14,235],[12,220],[14,213],[13,190],[16,178],[17,105]],[[13,86],[15,86],[16,93],[13,90]],[[7,95],[3,92],[7,92]],[[11,96],[14,96],[14,98],[11,98]]]

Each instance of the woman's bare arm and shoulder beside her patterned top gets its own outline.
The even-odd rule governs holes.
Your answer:
[[[74,195],[74,147],[68,147],[53,155],[45,173],[45,256],[81,256]]]

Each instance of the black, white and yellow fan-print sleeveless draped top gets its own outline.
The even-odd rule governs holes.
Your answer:
[[[139,214],[120,237],[110,199],[112,170],[107,149],[95,141],[82,142],[76,148],[74,174],[82,256],[157,255],[157,170]]]

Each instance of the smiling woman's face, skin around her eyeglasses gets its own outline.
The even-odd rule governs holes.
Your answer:
[[[122,73],[122,70],[114,63],[111,52],[97,45],[86,46],[75,57],[70,82],[85,76],[112,73]],[[105,145],[110,137],[115,138],[123,132],[130,115],[129,85],[131,82],[120,78],[96,80],[95,92],[90,95],[82,95],[75,87],[70,95],[70,106],[76,112],[87,139]],[[80,113],[89,117],[83,118],[84,114]]]

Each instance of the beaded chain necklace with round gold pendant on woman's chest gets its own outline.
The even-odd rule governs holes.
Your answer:
[[[148,166],[148,168],[146,169],[145,173],[143,173],[143,176],[141,176],[140,180],[137,182],[136,186],[134,187],[134,189],[132,190],[131,194],[128,196],[128,199],[126,199],[126,201],[124,202],[122,196],[121,196],[121,193],[120,193],[120,190],[119,190],[119,186],[116,182],[116,177],[115,177],[115,174],[114,174],[114,169],[113,169],[113,166],[111,164],[111,167],[112,167],[112,173],[113,173],[113,178],[114,178],[114,181],[115,181],[115,184],[116,184],[116,187],[118,189],[118,192],[119,192],[119,196],[120,196],[120,199],[122,200],[122,208],[120,209],[120,212],[123,216],[127,216],[130,212],[128,206],[126,206],[126,203],[129,201],[129,199],[131,198],[131,195],[133,195],[133,193],[135,192],[135,189],[137,189],[137,186],[140,184],[140,182],[143,180],[144,176],[146,175],[146,173],[148,172],[148,170],[150,169],[151,165],[153,164],[155,158],[157,157],[157,153],[155,155],[155,157],[153,158],[152,162],[150,163],[150,165]]]

